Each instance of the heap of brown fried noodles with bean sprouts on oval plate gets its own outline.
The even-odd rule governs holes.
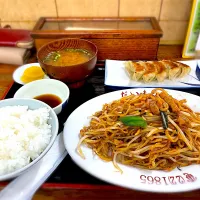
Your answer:
[[[200,163],[200,113],[193,112],[186,100],[177,100],[164,89],[132,94],[103,105],[90,125],[80,131],[77,147],[86,144],[102,160],[146,169],[170,171]],[[165,113],[168,127],[163,127]],[[120,118],[140,116],[145,128],[125,125]]]

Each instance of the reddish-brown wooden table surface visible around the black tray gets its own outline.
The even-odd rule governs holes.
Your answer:
[[[158,59],[175,59],[181,58],[182,46],[160,46],[158,51]],[[35,56],[31,57],[29,62],[35,62]],[[12,73],[18,66],[0,64],[0,99],[5,98],[9,88],[12,86]],[[3,188],[6,183],[0,183]],[[144,200],[144,199],[162,199],[162,200],[197,200],[200,198],[200,190],[186,193],[146,193],[134,190],[128,190],[116,186],[99,186],[99,185],[75,185],[75,184],[51,184],[45,183],[35,194],[34,200],[100,200],[100,199],[115,199],[115,200]]]

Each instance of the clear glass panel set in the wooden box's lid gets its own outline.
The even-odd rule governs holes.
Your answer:
[[[46,21],[42,30],[152,30],[150,21]]]

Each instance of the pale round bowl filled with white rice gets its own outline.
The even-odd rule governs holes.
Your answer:
[[[42,101],[1,100],[0,181],[20,175],[39,161],[53,145],[58,128],[56,113]]]

